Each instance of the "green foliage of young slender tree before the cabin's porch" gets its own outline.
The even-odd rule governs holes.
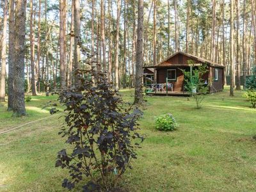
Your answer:
[[[189,62],[188,62],[189,63]],[[191,64],[191,63],[189,63]],[[185,88],[188,90],[190,95],[196,100],[196,108],[200,109],[202,101],[208,92],[209,86],[205,84],[205,79],[202,77],[207,73],[207,66],[202,65],[192,69],[192,72],[182,70],[185,76]]]

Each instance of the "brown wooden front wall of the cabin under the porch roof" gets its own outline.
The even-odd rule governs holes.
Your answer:
[[[166,83],[167,69],[171,68],[158,68],[157,69],[157,83]],[[184,75],[179,68],[176,68],[177,81],[170,81],[173,84],[173,92],[183,92]]]

